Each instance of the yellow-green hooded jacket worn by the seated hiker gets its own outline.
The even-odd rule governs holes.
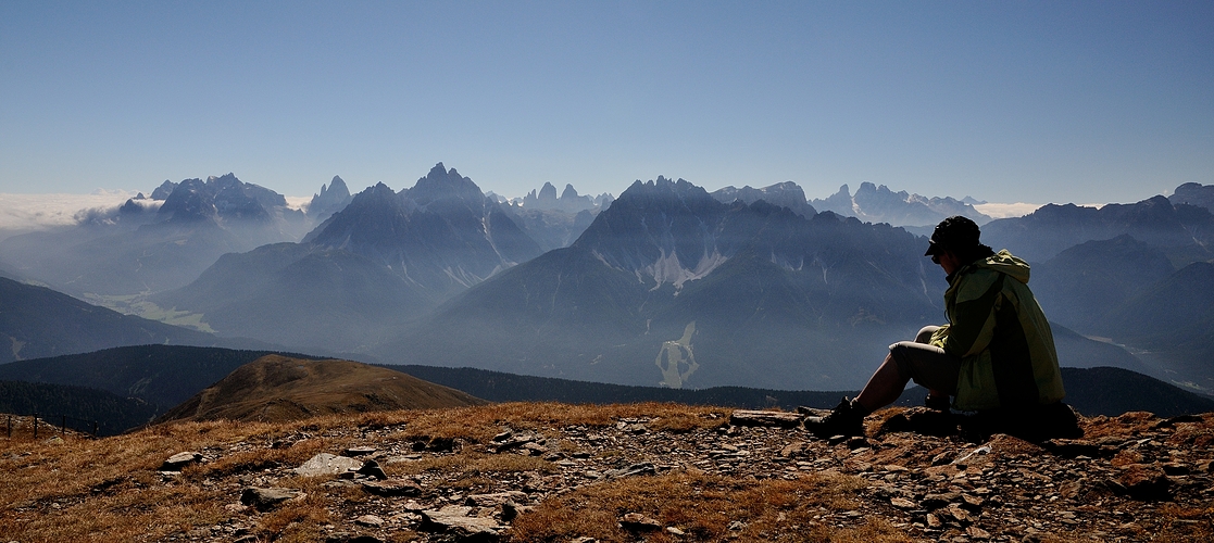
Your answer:
[[[1054,335],[1028,290],[1028,263],[1006,250],[961,267],[944,292],[948,325],[931,343],[961,359],[961,411],[1053,404],[1066,394]]]

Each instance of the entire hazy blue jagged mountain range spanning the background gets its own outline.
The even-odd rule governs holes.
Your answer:
[[[921,229],[897,224],[927,212],[988,218],[971,213],[971,199],[870,183],[840,194],[850,204],[835,212],[795,183],[708,193],[659,176],[614,201],[572,187],[556,198],[548,184],[512,204],[438,164],[399,192],[380,183],[350,195],[335,177],[302,213],[229,175],[166,182],[151,205],[131,200],[42,233],[42,241],[84,240],[66,251],[74,278],[42,275],[56,251],[39,259],[36,236],[0,245],[0,269],[95,302],[137,292],[144,305],[130,308],[141,314],[313,354],[669,388],[838,390],[863,384],[885,345],[943,320],[943,274],[921,256]],[[1048,205],[986,223],[983,242],[1033,264],[1063,365],[1113,365],[1214,390],[1203,305],[1214,218],[1203,194],[1181,185],[1173,199]],[[242,224],[268,240],[299,238],[256,245]],[[256,247],[219,256],[227,248],[208,236]],[[134,272],[113,272],[119,264]],[[168,288],[187,268],[193,279]],[[169,269],[181,276],[149,281]],[[114,275],[114,285],[89,286]],[[53,333],[41,335],[49,347],[10,337],[18,351],[33,349],[19,358],[42,353],[35,347],[90,348],[56,347],[67,343]]]

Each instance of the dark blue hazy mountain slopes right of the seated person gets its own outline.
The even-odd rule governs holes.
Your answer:
[[[1214,216],[1206,207],[1163,196],[1100,208],[1048,205],[991,222],[982,240],[1039,262],[1033,290],[1053,320],[1128,345],[1155,377],[1214,391]]]

